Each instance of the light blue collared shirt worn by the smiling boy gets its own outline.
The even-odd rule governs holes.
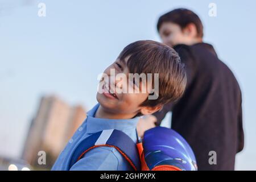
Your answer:
[[[135,143],[137,142],[136,126],[139,117],[132,119],[102,119],[94,118],[94,115],[100,104],[88,111],[87,118],[69,140],[67,146],[57,158],[52,170],[68,170],[69,160],[73,151],[75,151],[81,140],[87,138],[93,133],[102,130],[116,129],[123,131]],[[126,159],[114,147],[96,147],[85,153],[84,157],[75,163],[70,170],[84,171],[130,171],[133,168]]]

